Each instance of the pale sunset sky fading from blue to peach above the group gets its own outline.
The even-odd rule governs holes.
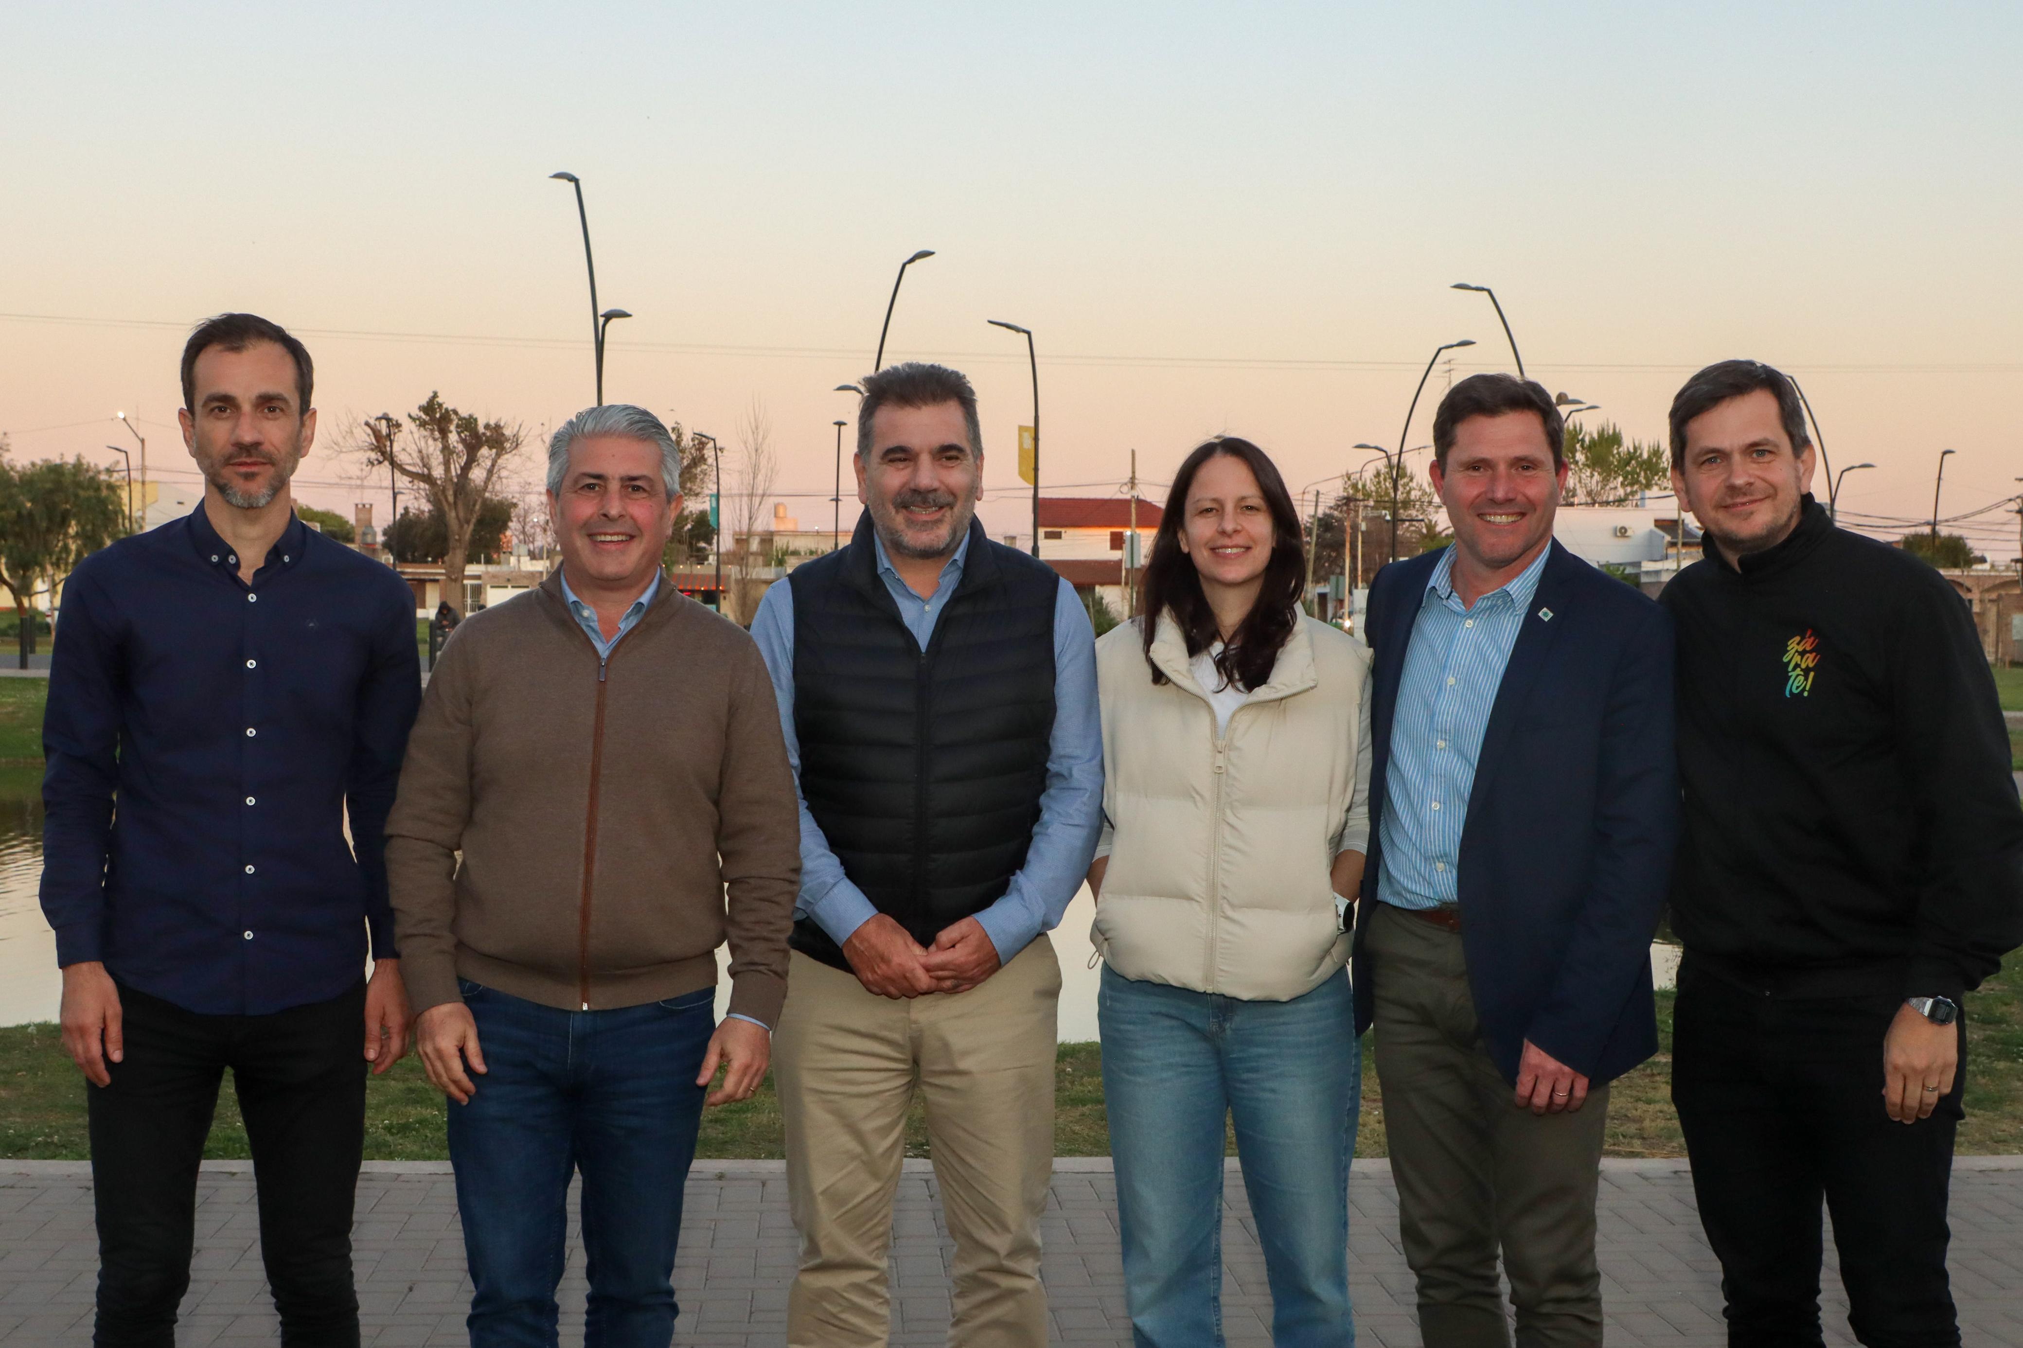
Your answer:
[[[14,4],[0,16],[0,431],[174,433],[192,322],[318,360],[299,496],[376,500],[344,423],[431,391],[552,427],[593,397],[726,447],[753,399],[779,500],[827,520],[831,421],[886,352],[971,372],[1018,526],[1038,334],[1048,490],[1161,496],[1204,435],[1287,480],[1398,443],[1440,342],[1663,435],[1697,366],[1813,399],[1845,514],[2023,476],[2023,6],[2005,4]],[[1408,445],[1430,439],[1434,376]],[[528,466],[532,478],[532,459]],[[850,510],[846,508],[846,518]],[[1902,532],[1902,530],[1898,530]],[[2017,516],[1968,526],[2017,555]]]

